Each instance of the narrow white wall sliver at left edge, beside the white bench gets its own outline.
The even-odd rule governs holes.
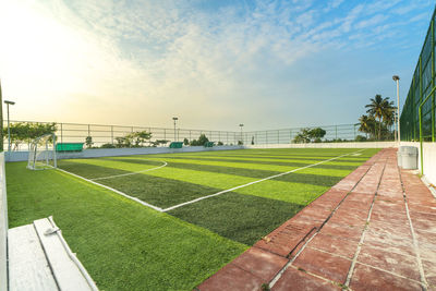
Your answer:
[[[8,204],[4,153],[0,153],[0,290],[8,290]]]

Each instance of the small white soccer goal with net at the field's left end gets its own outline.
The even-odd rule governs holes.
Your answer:
[[[56,167],[56,135],[49,133],[35,138],[28,151],[27,169],[45,170]]]

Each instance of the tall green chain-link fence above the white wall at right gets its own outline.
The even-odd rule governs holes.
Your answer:
[[[436,10],[435,10],[436,12]],[[435,142],[435,19],[432,21],[421,50],[412,84],[400,117],[402,141]]]

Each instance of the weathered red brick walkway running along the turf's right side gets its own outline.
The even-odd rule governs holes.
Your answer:
[[[436,199],[383,149],[197,290],[436,290]]]

